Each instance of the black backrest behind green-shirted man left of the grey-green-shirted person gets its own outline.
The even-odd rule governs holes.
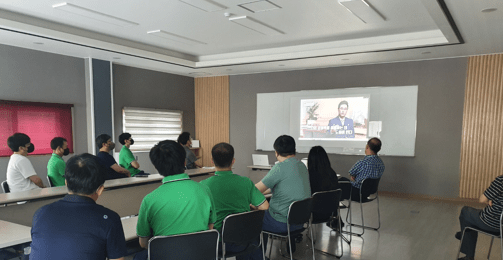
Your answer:
[[[248,245],[259,238],[264,223],[264,210],[232,214],[224,219],[222,241]]]

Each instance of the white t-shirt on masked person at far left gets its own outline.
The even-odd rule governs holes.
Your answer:
[[[9,164],[7,165],[7,184],[9,184],[10,192],[39,188],[30,180],[30,177],[33,175],[37,175],[37,173],[26,156],[20,154],[10,156]]]

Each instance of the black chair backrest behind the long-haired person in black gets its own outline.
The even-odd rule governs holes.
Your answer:
[[[320,191],[313,194],[313,221],[328,222],[339,210],[342,190]]]

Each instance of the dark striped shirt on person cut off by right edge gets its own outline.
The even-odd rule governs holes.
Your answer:
[[[500,217],[503,210],[503,175],[496,177],[489,188],[484,191],[484,196],[492,201],[492,206],[487,205],[480,212],[480,219],[486,225],[495,229],[500,228]]]

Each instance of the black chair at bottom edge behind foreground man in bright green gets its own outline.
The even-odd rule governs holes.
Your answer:
[[[209,260],[218,258],[215,229],[173,236],[157,236],[148,241],[150,260]]]

